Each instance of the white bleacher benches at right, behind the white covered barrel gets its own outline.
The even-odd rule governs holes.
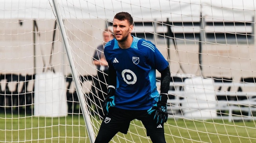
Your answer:
[[[256,114],[256,92],[255,91],[236,91],[239,87],[254,87],[254,83],[246,82],[214,82],[214,93],[216,96],[215,109],[219,119],[232,120],[254,120],[253,114]],[[157,81],[160,89],[160,81]],[[184,82],[171,82],[168,91],[167,110],[169,117],[184,118],[182,111],[185,109],[182,104],[186,104],[186,91]],[[231,91],[231,89],[234,89]],[[209,108],[208,108],[209,109]],[[199,111],[199,109],[198,109]]]

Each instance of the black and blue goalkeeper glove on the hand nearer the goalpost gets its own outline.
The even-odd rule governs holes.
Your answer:
[[[109,113],[109,107],[114,107],[114,93],[115,89],[114,87],[110,86],[107,89],[107,97],[103,101],[103,113],[107,115]]]

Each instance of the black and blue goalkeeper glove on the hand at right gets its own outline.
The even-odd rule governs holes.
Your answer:
[[[147,113],[154,115],[154,121],[157,125],[167,122],[168,113],[167,113],[167,95],[160,94],[158,102],[151,107]]]

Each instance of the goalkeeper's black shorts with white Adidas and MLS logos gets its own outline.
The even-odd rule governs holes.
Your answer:
[[[147,130],[147,136],[154,132],[164,132],[163,123],[157,125],[147,110],[126,110],[116,107],[109,108],[109,114],[105,116],[101,127],[113,132],[127,134],[130,122],[134,119],[142,121]]]

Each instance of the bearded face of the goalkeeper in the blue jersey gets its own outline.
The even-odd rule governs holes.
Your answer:
[[[129,34],[133,30],[133,25],[130,25],[127,20],[113,20],[113,32],[114,32],[114,38],[116,38],[117,41],[123,42],[126,41]]]

